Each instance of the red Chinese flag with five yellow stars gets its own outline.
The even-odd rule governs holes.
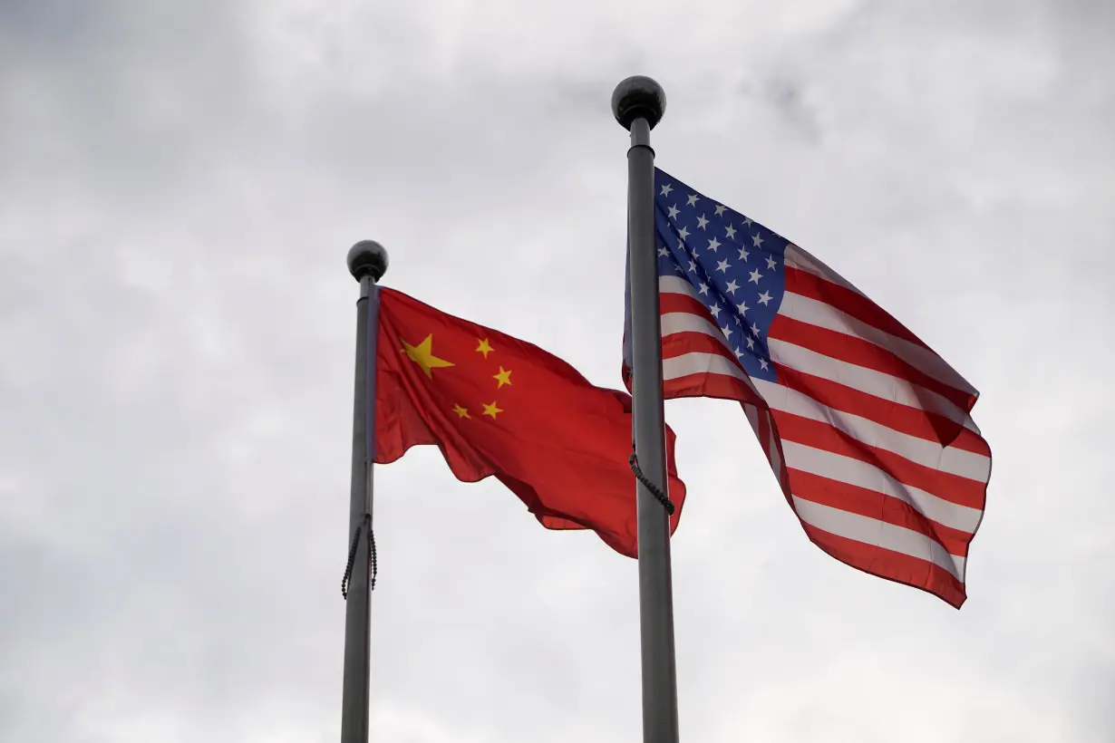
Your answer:
[[[549,529],[592,529],[638,556],[631,398],[536,345],[379,290],[376,462],[437,444],[458,480],[494,475]],[[677,528],[685,485],[667,429]]]

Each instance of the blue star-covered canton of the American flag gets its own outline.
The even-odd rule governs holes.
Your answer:
[[[744,370],[777,381],[767,332],[786,293],[786,239],[655,170],[658,275],[681,276]]]

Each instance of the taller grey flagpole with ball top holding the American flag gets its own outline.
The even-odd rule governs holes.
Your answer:
[[[655,150],[650,130],[666,110],[666,92],[636,76],[615,87],[612,113],[631,133],[628,150],[628,256],[631,305],[631,394],[639,468],[662,492],[666,420],[662,345],[655,250]],[[643,743],[677,743],[678,684],[673,653],[673,589],[669,515],[641,481],[639,515],[639,625],[642,646]]]

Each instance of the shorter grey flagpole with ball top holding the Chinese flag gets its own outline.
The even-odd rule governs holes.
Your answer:
[[[349,491],[351,575],[345,606],[345,672],[341,691],[341,743],[368,741],[368,686],[371,613],[368,553],[371,541],[372,461],[376,452],[376,336],[379,287],[387,273],[387,251],[361,241],[348,252],[348,267],[360,282],[356,303],[356,389],[352,401],[352,485]],[[348,571],[347,571],[348,573]],[[342,584],[343,587],[343,584]]]

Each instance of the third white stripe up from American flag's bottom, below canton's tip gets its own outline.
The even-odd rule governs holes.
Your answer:
[[[991,459],[954,447],[942,448],[935,441],[895,431],[873,420],[824,405],[809,395],[762,379],[752,380],[772,410],[827,423],[861,443],[899,454],[910,461],[942,472],[987,483]]]

